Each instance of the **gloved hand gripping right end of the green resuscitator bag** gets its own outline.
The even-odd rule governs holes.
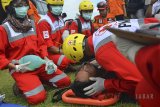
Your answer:
[[[57,71],[57,65],[55,65],[52,60],[49,60],[47,58],[45,59],[45,61],[46,61],[45,71],[47,71],[47,74],[52,74],[53,72]]]

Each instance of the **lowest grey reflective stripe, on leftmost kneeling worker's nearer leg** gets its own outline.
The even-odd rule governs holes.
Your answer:
[[[33,96],[33,95],[36,95],[36,94],[40,93],[43,90],[44,90],[44,87],[41,84],[37,88],[35,88],[35,89],[31,90],[31,91],[25,92],[24,94],[25,94],[26,97],[30,97],[30,96]]]

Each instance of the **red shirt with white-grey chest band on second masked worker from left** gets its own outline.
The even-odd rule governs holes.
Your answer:
[[[47,13],[38,23],[38,29],[48,47],[59,47],[62,44],[64,21],[61,17],[54,17],[51,13]]]

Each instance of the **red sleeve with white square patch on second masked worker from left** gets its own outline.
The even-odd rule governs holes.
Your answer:
[[[51,47],[53,45],[52,38],[51,38],[51,26],[46,21],[41,21],[37,25],[37,32],[44,41],[47,47]]]

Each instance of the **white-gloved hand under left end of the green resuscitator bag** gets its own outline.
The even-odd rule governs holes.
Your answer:
[[[28,65],[30,64],[31,62],[27,62],[27,63],[24,63],[24,64],[19,64],[19,65],[16,65],[16,72],[21,72],[21,73],[24,73],[24,72],[27,72],[27,71],[31,71],[30,68],[28,68]]]

